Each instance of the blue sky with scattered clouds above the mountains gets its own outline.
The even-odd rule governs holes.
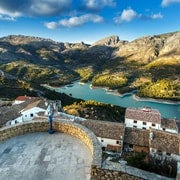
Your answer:
[[[0,37],[93,43],[180,30],[180,0],[0,0]]]

